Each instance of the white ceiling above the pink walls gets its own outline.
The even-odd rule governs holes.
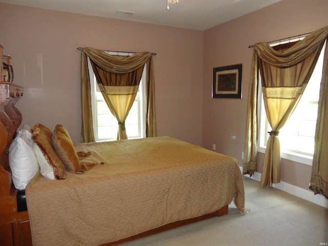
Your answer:
[[[279,1],[179,0],[178,4],[170,4],[169,10],[167,0],[0,0],[0,3],[206,30]],[[117,14],[117,10],[135,14]]]

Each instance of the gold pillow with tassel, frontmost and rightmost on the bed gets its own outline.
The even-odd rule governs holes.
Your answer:
[[[68,172],[83,174],[94,166],[93,163],[80,163],[72,139],[62,125],[56,125],[52,135],[52,144]]]

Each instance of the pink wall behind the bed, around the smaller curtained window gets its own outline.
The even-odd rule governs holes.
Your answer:
[[[0,4],[0,44],[12,56],[23,123],[63,124],[80,141],[80,51],[151,51],[158,135],[202,144],[203,32]],[[42,63],[40,63],[42,57]]]

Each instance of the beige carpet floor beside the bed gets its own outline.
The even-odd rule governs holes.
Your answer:
[[[245,207],[229,214],[122,244],[124,246],[328,245],[328,210],[244,177]]]

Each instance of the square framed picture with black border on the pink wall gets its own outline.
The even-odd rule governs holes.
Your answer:
[[[213,98],[241,98],[242,64],[213,68]]]

